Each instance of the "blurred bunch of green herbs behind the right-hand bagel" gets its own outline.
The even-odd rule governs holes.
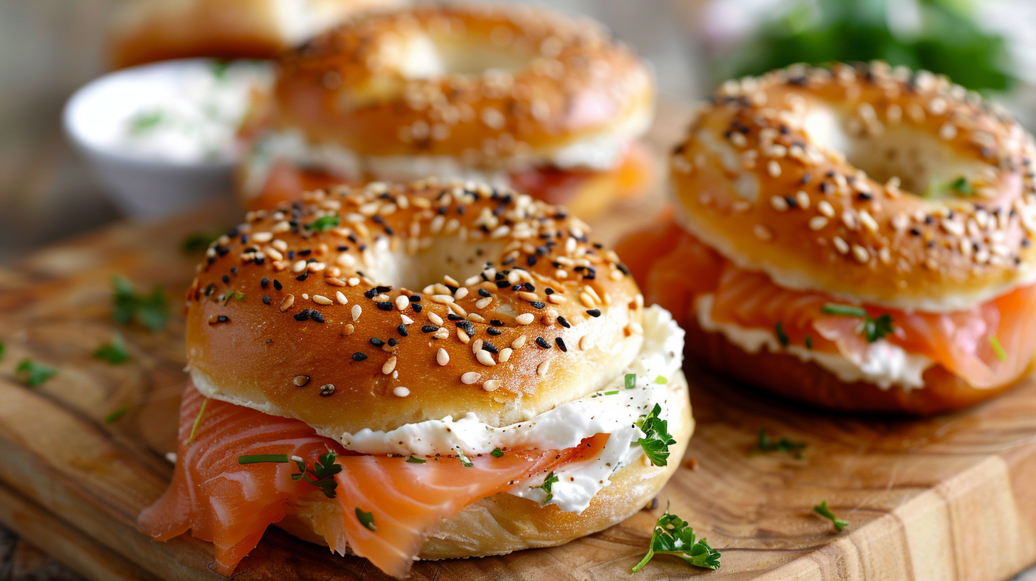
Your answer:
[[[1015,83],[1004,38],[983,31],[972,0],[917,0],[916,30],[889,28],[897,0],[797,0],[733,55],[719,78],[760,75],[796,62],[886,60],[948,76],[975,90]]]

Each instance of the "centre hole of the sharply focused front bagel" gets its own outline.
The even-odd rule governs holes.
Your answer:
[[[414,254],[378,245],[372,264],[364,273],[379,284],[420,293],[429,284],[443,282],[448,275],[463,285],[467,278],[481,274],[486,262],[498,259],[502,253],[500,243],[472,244],[458,238],[436,239],[429,248]],[[494,266],[499,269],[498,264]]]

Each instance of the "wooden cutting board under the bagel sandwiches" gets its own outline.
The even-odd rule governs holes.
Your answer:
[[[686,108],[653,134],[672,143]],[[681,115],[677,118],[677,115]],[[596,236],[650,223],[656,194],[595,220]],[[122,223],[26,256],[0,271],[0,521],[94,580],[222,579],[191,536],[154,543],[137,514],[172,474],[185,381],[179,299],[198,256],[191,232],[235,224],[214,204],[162,223]],[[111,340],[113,274],[173,298],[166,330],[123,328],[132,360],[93,352]],[[58,375],[15,380],[24,358]],[[930,419],[855,418],[805,410],[688,369],[697,431],[659,507],[553,549],[419,562],[412,578],[629,579],[666,503],[722,552],[715,573],[661,557],[632,579],[1007,579],[1036,561],[1036,383]],[[115,410],[128,412],[112,423]],[[803,458],[753,451],[759,428],[807,444]],[[851,525],[836,533],[811,513],[822,500]],[[238,568],[241,581],[380,579],[271,528]]]

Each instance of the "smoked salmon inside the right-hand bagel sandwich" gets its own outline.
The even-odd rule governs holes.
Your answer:
[[[818,292],[778,286],[766,274],[736,267],[684,231],[674,221],[628,238],[617,247],[637,265],[645,302],[658,303],[685,322],[696,319],[695,300],[713,296],[713,321],[774,331],[780,323],[789,344],[841,353],[857,362],[868,341],[861,317],[831,314],[825,306],[844,304]],[[884,338],[911,354],[923,355],[982,389],[1009,383],[1029,368],[1036,345],[1036,284],[953,312],[906,312],[860,305],[876,319],[888,314],[893,331]]]

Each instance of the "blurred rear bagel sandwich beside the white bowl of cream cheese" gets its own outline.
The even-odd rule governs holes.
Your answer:
[[[303,185],[437,174],[598,210],[642,187],[649,162],[635,140],[654,98],[628,48],[542,8],[426,5],[359,19],[282,59],[242,194],[268,208]]]

